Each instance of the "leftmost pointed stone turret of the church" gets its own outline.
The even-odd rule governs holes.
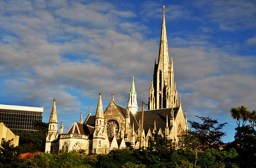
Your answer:
[[[46,145],[45,152],[57,152],[58,153],[58,121],[57,121],[57,112],[55,105],[55,97],[53,99],[52,113],[50,115],[48,132],[46,133]]]

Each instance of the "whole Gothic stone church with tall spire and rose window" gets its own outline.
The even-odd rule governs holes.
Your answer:
[[[186,111],[183,113],[180,97],[177,99],[172,59],[171,62],[169,61],[164,10],[163,8],[158,63],[155,61],[154,64],[148,110],[138,111],[137,93],[134,78],[132,78],[126,108],[116,104],[114,93],[112,93],[111,101],[103,111],[100,92],[96,115],[91,115],[89,107],[89,113],[84,122],[81,113],[80,121],[75,121],[66,134],[63,134],[63,123],[61,123],[60,134],[58,134],[54,98],[46,134],[45,152],[69,152],[84,149],[86,153],[107,154],[113,149],[148,147],[149,140],[153,138],[152,132],[158,132],[172,139],[174,146],[178,145],[178,135],[187,130],[188,125]]]

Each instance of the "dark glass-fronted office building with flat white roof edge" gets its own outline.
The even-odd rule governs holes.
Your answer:
[[[14,133],[29,133],[34,130],[34,122],[42,122],[44,107],[0,105],[0,122]]]

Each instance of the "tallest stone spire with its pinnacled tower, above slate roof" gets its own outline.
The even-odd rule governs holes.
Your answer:
[[[177,90],[174,83],[173,63],[169,62],[168,44],[163,7],[163,22],[158,63],[155,60],[153,81],[151,82],[148,109],[163,109],[178,106]]]

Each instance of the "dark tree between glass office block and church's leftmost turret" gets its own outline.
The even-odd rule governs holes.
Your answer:
[[[26,152],[44,152],[46,143],[46,132],[48,124],[36,121],[34,123],[35,131],[29,134],[17,134],[20,136],[19,146],[22,148],[22,153]]]

